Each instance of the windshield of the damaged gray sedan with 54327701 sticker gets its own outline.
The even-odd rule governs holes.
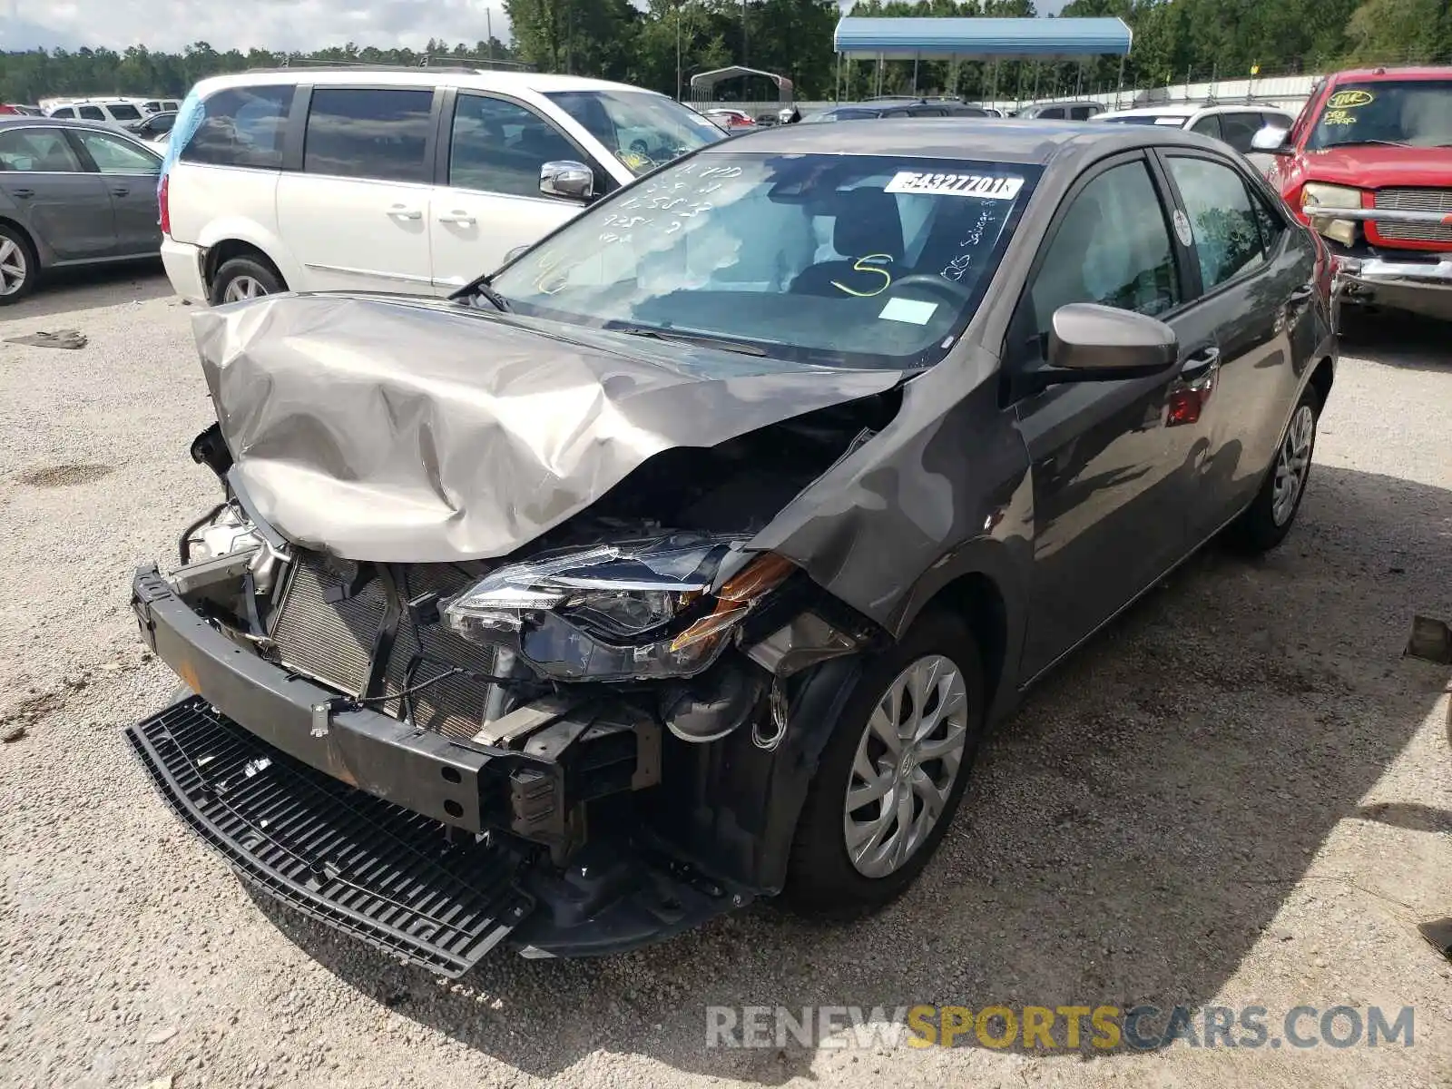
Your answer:
[[[499,272],[511,312],[857,367],[938,362],[973,317],[1038,167],[694,155]]]

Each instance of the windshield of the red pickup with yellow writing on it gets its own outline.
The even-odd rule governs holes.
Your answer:
[[[1308,148],[1345,144],[1452,147],[1452,80],[1385,80],[1339,86],[1326,100]]]

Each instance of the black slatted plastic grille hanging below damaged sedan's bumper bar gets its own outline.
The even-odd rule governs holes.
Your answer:
[[[449,977],[533,908],[521,858],[264,745],[197,697],[126,730],[167,804],[267,894]]]

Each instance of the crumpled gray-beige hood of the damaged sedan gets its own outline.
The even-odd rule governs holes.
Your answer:
[[[202,311],[193,331],[257,514],[379,562],[504,556],[662,450],[902,378],[366,295]]]

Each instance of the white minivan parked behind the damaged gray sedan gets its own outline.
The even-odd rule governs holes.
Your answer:
[[[664,94],[571,76],[221,76],[193,89],[171,135],[161,257],[179,295],[211,303],[447,295],[595,197],[723,138]]]

